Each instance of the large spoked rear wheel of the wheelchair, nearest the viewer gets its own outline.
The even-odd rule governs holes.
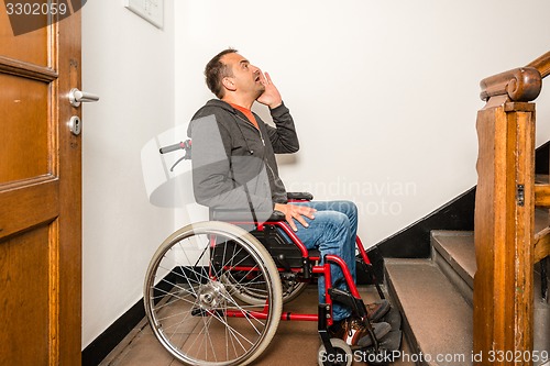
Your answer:
[[[234,284],[265,288],[265,301],[234,296]],[[255,280],[251,280],[256,278]],[[268,346],[282,313],[280,278],[257,240],[224,222],[201,222],[158,247],[144,284],[145,312],[161,344],[187,365],[248,365]]]

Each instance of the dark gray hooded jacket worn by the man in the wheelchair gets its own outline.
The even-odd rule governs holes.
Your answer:
[[[286,203],[275,154],[299,148],[293,118],[284,104],[271,110],[275,127],[254,114],[260,130],[224,101],[212,99],[194,115],[193,187],[198,203],[218,211],[273,212]]]

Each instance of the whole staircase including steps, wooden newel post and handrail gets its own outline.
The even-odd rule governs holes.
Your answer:
[[[549,75],[550,52],[481,81],[474,232],[432,231],[430,258],[385,260],[410,350],[403,362],[550,366],[550,306],[540,290],[550,184],[535,175],[532,102]]]

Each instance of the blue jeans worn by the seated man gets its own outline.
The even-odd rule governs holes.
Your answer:
[[[308,249],[316,248],[322,258],[327,254],[341,257],[346,264],[355,282],[355,236],[358,234],[358,208],[351,201],[311,201],[292,204],[308,206],[317,210],[315,219],[304,218],[309,228],[304,228],[296,222],[297,236]],[[349,290],[338,265],[331,264],[332,284],[338,281],[338,288]],[[324,302],[324,276],[319,277],[319,301]],[[334,321],[343,320],[351,315],[351,309],[334,302],[332,317]]]

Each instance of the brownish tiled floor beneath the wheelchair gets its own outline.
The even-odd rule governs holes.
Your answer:
[[[376,299],[376,292],[371,287],[361,287],[360,292],[365,302]],[[316,313],[317,302],[317,287],[309,287],[298,299],[286,304],[284,311]],[[319,345],[317,322],[282,321],[268,348],[254,365],[317,365]],[[182,364],[163,348],[146,321],[143,320],[100,365],[179,366]],[[395,363],[394,365],[411,366],[414,364]]]

